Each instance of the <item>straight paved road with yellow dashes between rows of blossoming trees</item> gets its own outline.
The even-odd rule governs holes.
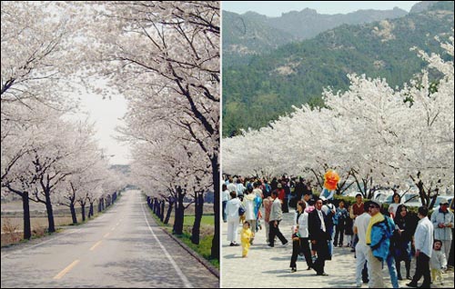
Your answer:
[[[39,243],[2,249],[2,287],[217,287],[165,234],[139,191],[106,214]]]

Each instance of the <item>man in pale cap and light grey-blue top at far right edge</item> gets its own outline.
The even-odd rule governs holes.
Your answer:
[[[440,201],[440,209],[431,214],[431,224],[434,228],[434,238],[442,241],[442,250],[449,259],[452,241],[453,213],[449,210],[447,200]]]

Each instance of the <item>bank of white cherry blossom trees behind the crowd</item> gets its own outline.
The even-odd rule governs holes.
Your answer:
[[[453,59],[453,36],[442,43]],[[311,172],[336,169],[338,191],[357,184],[372,196],[375,186],[420,189],[422,204],[434,205],[440,189],[453,186],[453,61],[419,52],[436,69],[424,70],[403,89],[385,79],[349,75],[346,92],[327,89],[327,108],[308,105],[268,127],[223,140],[223,168],[230,174]]]

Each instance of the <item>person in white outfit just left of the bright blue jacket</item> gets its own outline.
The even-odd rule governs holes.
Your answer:
[[[364,205],[364,212],[360,214],[356,220],[354,221],[354,233],[359,236],[359,242],[356,244],[356,286],[362,286],[362,271],[365,267],[365,264],[368,266],[369,275],[370,268],[368,261],[368,252],[369,246],[367,245],[367,229],[369,226],[369,219],[371,216],[369,215],[369,203]]]

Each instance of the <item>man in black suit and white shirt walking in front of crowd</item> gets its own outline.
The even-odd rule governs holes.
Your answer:
[[[315,210],[308,214],[308,238],[318,255],[313,263],[313,269],[317,275],[328,276],[329,274],[324,272],[324,266],[326,260],[329,259],[329,234],[324,221],[324,213],[322,213],[322,200],[320,199],[316,201]]]

